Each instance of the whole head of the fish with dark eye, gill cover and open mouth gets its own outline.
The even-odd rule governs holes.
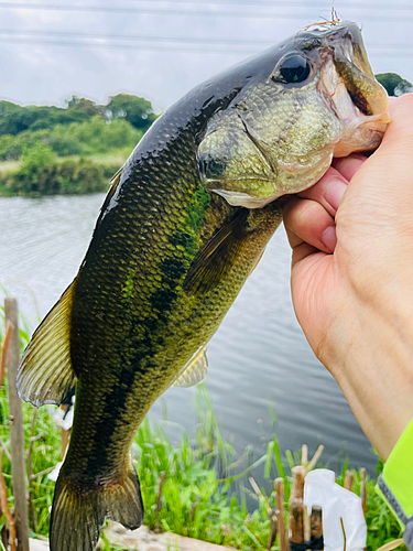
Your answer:
[[[378,148],[390,122],[361,32],[316,26],[250,61],[249,82],[209,120],[197,151],[203,185],[262,207],[322,177],[333,156]]]

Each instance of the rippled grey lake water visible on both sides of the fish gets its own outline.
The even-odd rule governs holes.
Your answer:
[[[0,283],[19,301],[32,327],[76,276],[104,195],[0,198]],[[240,452],[262,454],[278,415],[283,450],[302,444],[334,467],[343,450],[350,465],[374,471],[377,458],[340,389],[314,357],[295,320],[290,295],[291,250],[283,228],[208,347],[207,386],[226,435]],[[33,299],[35,298],[35,301]],[[39,313],[37,313],[39,312]],[[170,389],[151,410],[193,429],[195,389]]]

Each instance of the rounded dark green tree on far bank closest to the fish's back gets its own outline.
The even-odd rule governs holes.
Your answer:
[[[109,99],[110,101],[107,105],[109,118],[118,119],[124,117],[134,128],[143,132],[146,131],[156,119],[151,101],[145,98],[130,96],[128,94],[118,94]]]

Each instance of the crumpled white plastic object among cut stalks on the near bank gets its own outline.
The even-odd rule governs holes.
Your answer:
[[[352,491],[335,482],[335,473],[326,468],[312,471],[305,477],[304,503],[311,512],[313,505],[323,508],[323,530],[325,551],[343,551],[343,518],[346,530],[347,551],[363,551],[367,526],[361,499]]]

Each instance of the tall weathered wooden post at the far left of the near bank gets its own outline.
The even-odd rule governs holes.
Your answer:
[[[15,390],[20,361],[19,315],[15,299],[4,299],[6,322],[14,327],[7,357],[10,441],[12,456],[14,518],[18,532],[18,551],[29,551],[29,512],[25,486],[23,410]]]

